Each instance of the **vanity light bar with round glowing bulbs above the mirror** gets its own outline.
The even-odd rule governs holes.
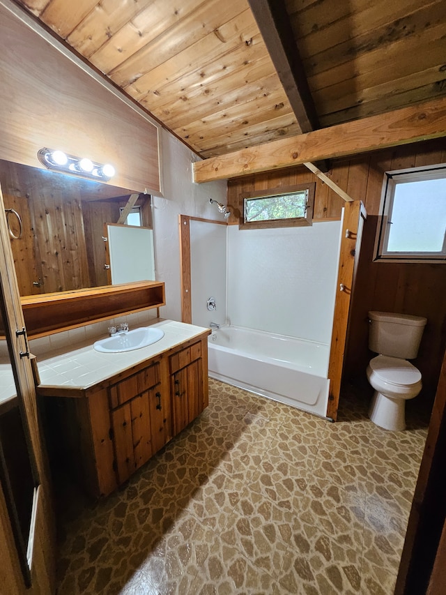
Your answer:
[[[38,151],[37,156],[40,163],[45,165],[49,170],[64,174],[72,174],[107,182],[116,173],[113,165],[109,163],[102,165],[85,157],[75,157],[74,155],[63,153],[63,151],[55,151],[54,149],[46,149],[45,147]]]

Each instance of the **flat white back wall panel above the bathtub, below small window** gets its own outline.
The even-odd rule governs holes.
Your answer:
[[[228,229],[228,319],[233,326],[330,343],[339,221]]]

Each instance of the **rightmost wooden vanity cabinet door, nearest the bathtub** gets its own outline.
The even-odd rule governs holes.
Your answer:
[[[174,408],[174,435],[183,430],[203,409],[201,359],[193,361],[171,377]]]

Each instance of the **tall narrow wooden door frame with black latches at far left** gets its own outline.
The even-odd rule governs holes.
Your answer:
[[[0,589],[14,594],[54,592],[54,529],[49,500],[47,460],[40,442],[36,410],[36,389],[33,381],[24,330],[24,319],[17,288],[13,255],[6,225],[3,196],[0,189],[0,306],[5,326],[8,351],[13,367],[17,405],[26,440],[26,459],[31,469],[31,515],[22,531],[17,527],[15,493],[8,474],[1,473],[0,486]],[[23,548],[25,547],[25,551]]]

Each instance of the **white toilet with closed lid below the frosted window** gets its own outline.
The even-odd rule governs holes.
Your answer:
[[[367,378],[375,389],[369,417],[385,430],[404,430],[406,400],[422,389],[420,370],[408,359],[417,356],[427,319],[422,316],[369,312],[370,360]]]

